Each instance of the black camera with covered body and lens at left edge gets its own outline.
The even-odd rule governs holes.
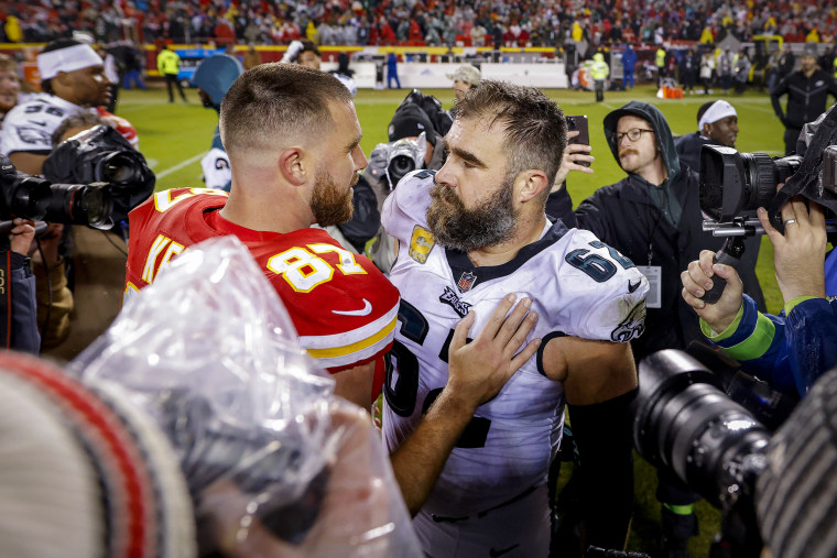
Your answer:
[[[44,178],[18,172],[0,155],[0,220],[22,217],[108,230],[154,190],[144,157],[108,125],[62,143],[43,171]]]

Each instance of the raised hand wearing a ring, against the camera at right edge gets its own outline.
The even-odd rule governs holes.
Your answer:
[[[759,208],[759,221],[773,243],[773,264],[776,282],[785,304],[800,296],[825,298],[826,232],[823,208],[794,196],[782,206],[784,236],[770,222],[764,208]]]

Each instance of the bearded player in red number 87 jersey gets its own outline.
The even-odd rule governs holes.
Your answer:
[[[351,217],[351,186],[367,166],[351,94],[328,74],[263,64],[227,92],[220,131],[229,196],[174,189],[137,208],[126,294],[152,283],[186,247],[235,234],[276,288],[302,347],[334,374],[336,393],[368,408],[383,381],[399,294],[366,258],[309,228]]]

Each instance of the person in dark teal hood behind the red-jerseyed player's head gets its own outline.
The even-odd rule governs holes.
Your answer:
[[[195,69],[192,81],[203,89],[211,99],[211,108],[216,112],[221,110],[221,100],[244,72],[244,67],[237,58],[226,54],[216,54],[205,58]],[[207,108],[210,108],[207,106]],[[229,158],[221,143],[220,127],[215,127],[213,134],[213,145],[209,153],[200,161],[204,169],[204,180],[208,188],[225,189],[229,192],[230,180],[232,178],[229,169]]]

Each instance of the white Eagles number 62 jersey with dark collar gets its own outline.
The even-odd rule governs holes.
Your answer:
[[[401,292],[400,326],[384,383],[383,436],[390,451],[407,439],[447,382],[454,328],[476,313],[475,337],[509,293],[540,316],[530,339],[559,335],[628,342],[642,332],[648,280],[630,260],[585,230],[559,221],[510,262],[475,267],[435,243],[425,211],[433,173],[413,173],[383,206],[399,240],[390,280]],[[546,480],[564,422],[561,382],[539,352],[481,405],[460,436],[424,511],[459,517],[488,510]]]

